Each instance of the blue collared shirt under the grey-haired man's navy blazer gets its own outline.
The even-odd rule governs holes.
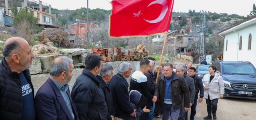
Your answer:
[[[72,115],[72,118],[75,119],[75,115],[74,115],[73,110],[72,110],[71,102],[70,102],[70,99],[69,99],[68,94],[67,94],[67,90],[68,90],[69,85],[65,84],[63,86],[62,84],[59,84],[58,82],[53,80],[51,76],[50,76],[50,79],[54,82],[54,84],[60,90],[60,94],[64,98],[64,101],[66,102],[66,104],[68,106],[68,110],[69,110],[70,114]]]

